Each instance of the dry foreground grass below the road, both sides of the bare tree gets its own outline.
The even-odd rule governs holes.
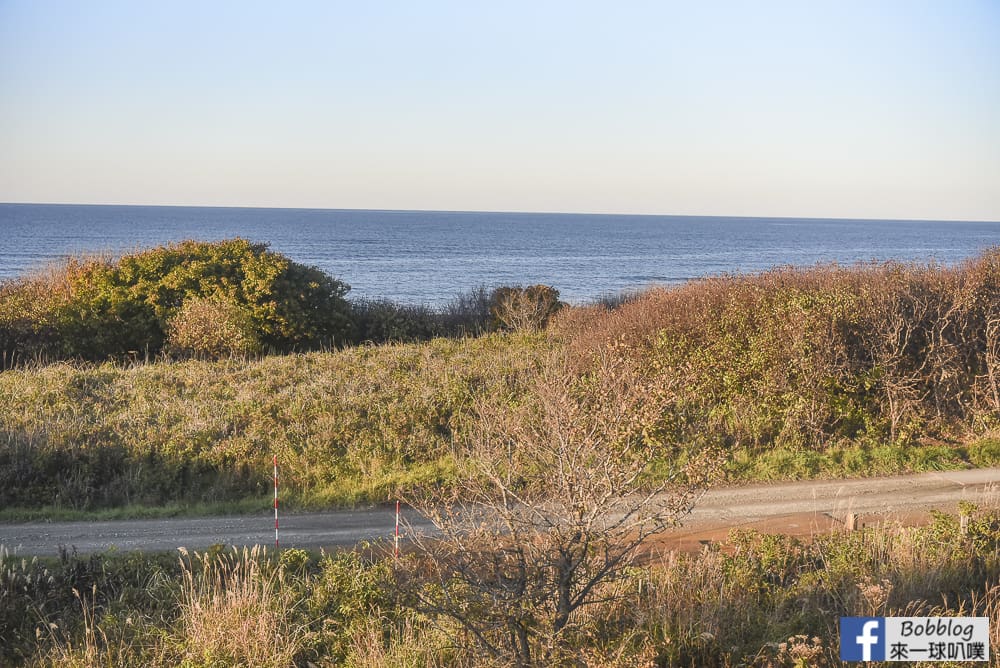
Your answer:
[[[963,512],[964,532],[958,516],[939,515],[926,527],[810,540],[737,531],[722,550],[665,553],[602,585],[602,602],[572,620],[571,643],[556,658],[622,668],[836,666],[838,618],[861,615],[986,616],[995,648],[1000,516]],[[282,566],[263,551],[185,557],[167,618],[142,606],[112,612],[88,590],[73,597],[77,622],[51,620],[57,628],[42,634],[29,664],[495,665],[450,646],[448,620],[379,594],[394,587],[386,564],[324,557],[303,568],[296,559]],[[375,586],[380,573],[390,580]]]

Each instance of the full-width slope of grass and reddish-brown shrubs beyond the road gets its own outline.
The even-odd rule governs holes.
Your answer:
[[[210,511],[266,498],[272,454],[290,504],[383,501],[455,475],[477,402],[530,401],[553,351],[585,372],[609,344],[674,397],[649,433],[654,471],[703,445],[723,447],[743,480],[989,466],[1000,462],[998,311],[992,252],[950,269],[707,279],[610,311],[567,309],[536,334],[8,371],[0,506],[8,518]]]

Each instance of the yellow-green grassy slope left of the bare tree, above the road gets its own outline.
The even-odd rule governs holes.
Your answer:
[[[13,498],[4,505],[263,496],[272,454],[289,501],[385,499],[447,478],[476,398],[519,392],[547,345],[542,335],[490,336],[252,362],[6,372],[0,463]]]

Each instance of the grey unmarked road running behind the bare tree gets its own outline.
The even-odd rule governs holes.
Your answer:
[[[842,520],[847,513],[889,517],[931,508],[953,509],[962,500],[1000,504],[1000,468],[923,473],[864,480],[808,481],[727,487],[709,491],[678,530],[711,532],[776,518]],[[412,511],[408,519],[426,528]],[[388,539],[393,511],[373,508],[285,515],[282,547],[338,547]],[[60,545],[80,552],[166,551],[184,546],[273,545],[273,515],[114,522],[0,524],[0,545],[17,554],[56,554]]]

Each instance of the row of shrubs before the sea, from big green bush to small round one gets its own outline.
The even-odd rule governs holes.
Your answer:
[[[547,286],[484,286],[439,308],[349,303],[349,286],[244,239],[184,241],[120,258],[68,258],[0,282],[0,370],[31,362],[218,359],[347,343],[537,329],[560,306]]]

